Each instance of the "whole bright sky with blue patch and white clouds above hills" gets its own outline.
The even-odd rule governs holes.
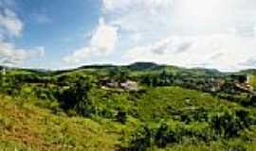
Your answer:
[[[0,0],[0,64],[256,68],[255,0]]]

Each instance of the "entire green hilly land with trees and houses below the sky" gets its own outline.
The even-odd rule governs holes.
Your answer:
[[[4,150],[256,149],[254,70],[135,63],[2,71]]]

